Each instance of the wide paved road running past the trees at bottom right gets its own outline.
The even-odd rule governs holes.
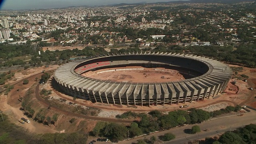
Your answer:
[[[198,138],[206,138],[214,135],[218,135],[225,131],[234,130],[238,127],[245,126],[247,124],[256,124],[256,111],[251,110],[250,113],[244,114],[244,116],[230,116],[225,118],[218,118],[214,120],[208,120],[206,122],[202,122],[201,124],[197,124],[200,126],[202,132],[198,134],[186,134],[184,133],[185,129],[191,129],[194,125],[186,125],[183,127],[176,127],[170,130],[165,130],[162,132],[157,132],[154,134],[150,134],[145,137],[130,139],[129,141],[118,142],[118,144],[132,144],[138,142],[140,139],[150,139],[151,136],[162,136],[167,132],[171,132],[176,135],[176,139],[166,142],[165,144],[184,144],[189,142],[190,140],[196,140]],[[208,131],[204,131],[204,130]],[[218,131],[218,132],[217,132]]]

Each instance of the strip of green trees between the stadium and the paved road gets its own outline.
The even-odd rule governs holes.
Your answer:
[[[239,111],[240,106],[227,106],[225,109],[207,112],[201,109],[191,108],[188,111],[175,110],[168,114],[162,114],[158,110],[146,113],[137,114],[135,112],[125,112],[117,115],[117,118],[140,118],[140,121],[134,121],[130,126],[125,126],[118,123],[98,122],[94,129],[90,132],[91,136],[104,136],[111,140],[123,140],[147,134],[157,130],[170,129],[184,124],[198,124],[209,120],[211,116],[217,116],[231,111]]]

